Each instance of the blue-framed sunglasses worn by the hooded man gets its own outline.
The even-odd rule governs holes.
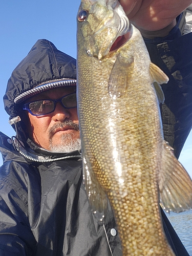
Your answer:
[[[73,109],[77,107],[76,93],[63,96],[60,99],[40,99],[25,103],[23,110],[27,110],[33,116],[42,116],[52,113],[59,102],[65,109]]]

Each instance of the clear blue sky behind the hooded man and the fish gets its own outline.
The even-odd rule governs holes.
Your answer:
[[[76,58],[76,15],[80,0],[0,1],[0,131],[15,135],[4,110],[3,96],[13,69],[38,39],[48,39],[58,50]],[[192,178],[192,132],[179,158]],[[0,157],[0,165],[2,158]]]

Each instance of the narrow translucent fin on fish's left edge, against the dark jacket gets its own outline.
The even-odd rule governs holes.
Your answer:
[[[108,207],[108,199],[93,173],[91,164],[83,157],[83,182],[86,188],[92,212],[102,224]]]

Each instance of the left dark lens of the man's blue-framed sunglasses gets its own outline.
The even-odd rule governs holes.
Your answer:
[[[29,104],[29,109],[34,115],[46,115],[54,110],[52,100],[37,100]]]

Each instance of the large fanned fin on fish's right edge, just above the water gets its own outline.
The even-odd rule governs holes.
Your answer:
[[[159,176],[160,204],[167,212],[181,212],[192,208],[192,181],[164,142],[163,172]]]

